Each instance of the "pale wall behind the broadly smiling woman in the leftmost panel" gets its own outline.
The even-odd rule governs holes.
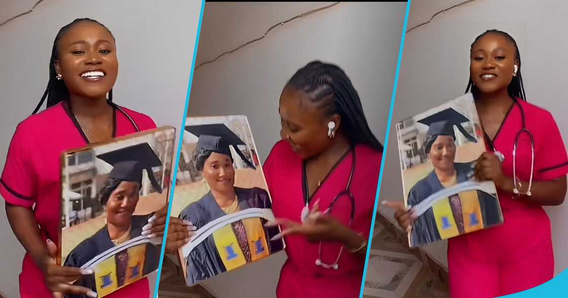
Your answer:
[[[0,22],[36,0],[0,0]],[[201,1],[44,1],[0,27],[0,170],[19,121],[31,114],[48,81],[57,31],[76,18],[105,24],[116,38],[119,75],[114,101],[159,125],[181,127]],[[53,128],[57,129],[57,128]],[[3,204],[3,203],[2,203]],[[3,207],[2,207],[3,209]],[[23,248],[0,212],[0,293],[18,297]]]

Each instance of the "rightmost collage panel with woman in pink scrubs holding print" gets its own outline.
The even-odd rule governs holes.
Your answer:
[[[566,65],[568,7],[549,5],[412,1],[364,297],[562,296],[568,123],[542,72]]]

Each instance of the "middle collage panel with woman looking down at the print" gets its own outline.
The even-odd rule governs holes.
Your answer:
[[[254,181],[260,178],[272,201],[274,220],[266,224],[279,224],[285,249],[224,270],[232,253],[245,263],[255,250],[241,245],[233,223],[232,242],[208,236],[207,250],[192,251],[187,261],[166,253],[158,296],[359,295],[405,11],[406,2],[206,3],[170,220],[183,208],[193,209],[188,220],[197,231],[185,244],[191,247],[207,227],[203,219],[215,219],[219,208],[241,201],[234,190],[258,187]],[[190,127],[236,115],[247,117],[254,146],[247,133],[227,125],[245,143],[222,154],[232,159],[227,168],[235,173],[232,182],[222,167],[196,167],[203,132],[196,135]],[[219,137],[218,131],[208,133]],[[222,142],[233,144],[221,136],[219,148]],[[212,152],[222,153],[219,148]],[[253,179],[243,160],[262,173]],[[187,205],[195,199],[208,207]],[[318,212],[325,213],[322,220],[333,220],[310,223]],[[169,229],[181,230],[176,226]],[[324,229],[336,232],[323,236]],[[236,250],[227,251],[231,243]],[[185,265],[209,268],[199,272],[207,278],[187,287]]]

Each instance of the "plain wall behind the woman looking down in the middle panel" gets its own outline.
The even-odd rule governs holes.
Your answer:
[[[261,36],[275,23],[329,3],[207,3],[196,65]],[[406,3],[345,2],[278,27],[265,39],[196,70],[188,115],[247,115],[264,161],[279,140],[282,88],[296,70],[319,59],[349,75],[371,129],[383,142],[405,10]],[[243,292],[249,298],[274,297],[284,260],[269,258],[204,286],[221,298]]]

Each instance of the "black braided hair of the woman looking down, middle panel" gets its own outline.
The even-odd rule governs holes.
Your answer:
[[[306,93],[310,102],[324,109],[326,116],[339,114],[343,132],[353,144],[366,144],[383,152],[383,145],[371,132],[359,94],[338,66],[312,61],[299,69],[286,87]]]

